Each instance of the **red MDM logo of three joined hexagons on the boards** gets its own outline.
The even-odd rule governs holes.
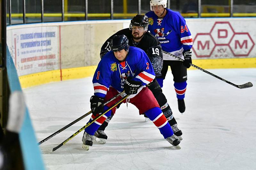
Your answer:
[[[248,56],[253,46],[248,32],[235,32],[229,22],[215,22],[209,33],[196,34],[192,49],[197,58],[228,58]]]

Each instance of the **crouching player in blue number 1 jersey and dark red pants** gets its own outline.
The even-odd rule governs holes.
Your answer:
[[[103,107],[100,105],[101,103],[108,101],[124,90],[127,95],[130,95],[124,103],[132,103],[139,109],[140,113],[145,113],[164,138],[173,146],[180,148],[180,140],[173,134],[156,98],[145,86],[155,78],[154,69],[147,54],[140,48],[129,47],[125,35],[114,36],[110,48],[111,51],[102,58],[93,76],[94,96],[90,99],[92,117],[89,122],[99,116],[98,113],[102,113],[120,100],[121,96]],[[140,87],[141,85],[142,87]],[[111,111],[115,113],[115,110],[116,108],[109,110],[85,128],[82,138],[82,147],[85,150],[92,146],[95,131],[111,115]]]

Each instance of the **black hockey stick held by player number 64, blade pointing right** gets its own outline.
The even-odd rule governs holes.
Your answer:
[[[176,58],[176,59],[178,59],[178,60],[180,60],[180,61],[184,61],[183,59],[181,59],[181,58],[179,58],[179,57],[177,57],[177,56],[175,56],[175,55],[173,55],[173,54],[171,54],[171,53],[168,53],[168,52],[165,52],[165,51],[163,51],[163,53],[168,54],[168,55],[172,56],[173,58]],[[201,71],[203,71],[204,73],[210,74],[210,75],[212,75],[213,77],[216,77],[216,78],[218,78],[218,79],[220,79],[220,80],[222,80],[222,81],[224,81],[224,82],[226,82],[226,83],[228,83],[228,84],[231,84],[232,86],[235,86],[235,87],[237,87],[237,88],[239,88],[239,89],[245,89],[245,88],[252,87],[252,83],[251,83],[251,82],[248,82],[248,83],[245,83],[245,84],[242,84],[242,85],[236,85],[236,84],[231,83],[230,81],[227,81],[227,80],[225,80],[225,79],[219,77],[218,75],[212,74],[211,72],[206,71],[206,70],[204,70],[203,68],[198,67],[198,66],[196,66],[196,65],[194,65],[194,64],[190,64],[190,66],[193,66],[193,67],[197,68],[198,70],[201,70]]]

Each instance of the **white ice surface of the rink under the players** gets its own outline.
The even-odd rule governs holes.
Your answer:
[[[183,132],[181,149],[171,146],[152,122],[132,105],[122,104],[105,132],[105,145],[82,149],[83,132],[55,152],[52,148],[86,124],[89,117],[40,145],[46,169],[251,170],[256,168],[256,68],[209,70],[238,89],[199,70],[188,71],[186,111],[180,114],[167,73],[163,92]],[[92,78],[24,89],[37,140],[40,141],[90,110]]]

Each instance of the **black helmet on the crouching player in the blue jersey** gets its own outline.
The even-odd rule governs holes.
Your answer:
[[[125,50],[128,52],[128,38],[125,35],[115,35],[110,42],[110,49],[114,52]]]

